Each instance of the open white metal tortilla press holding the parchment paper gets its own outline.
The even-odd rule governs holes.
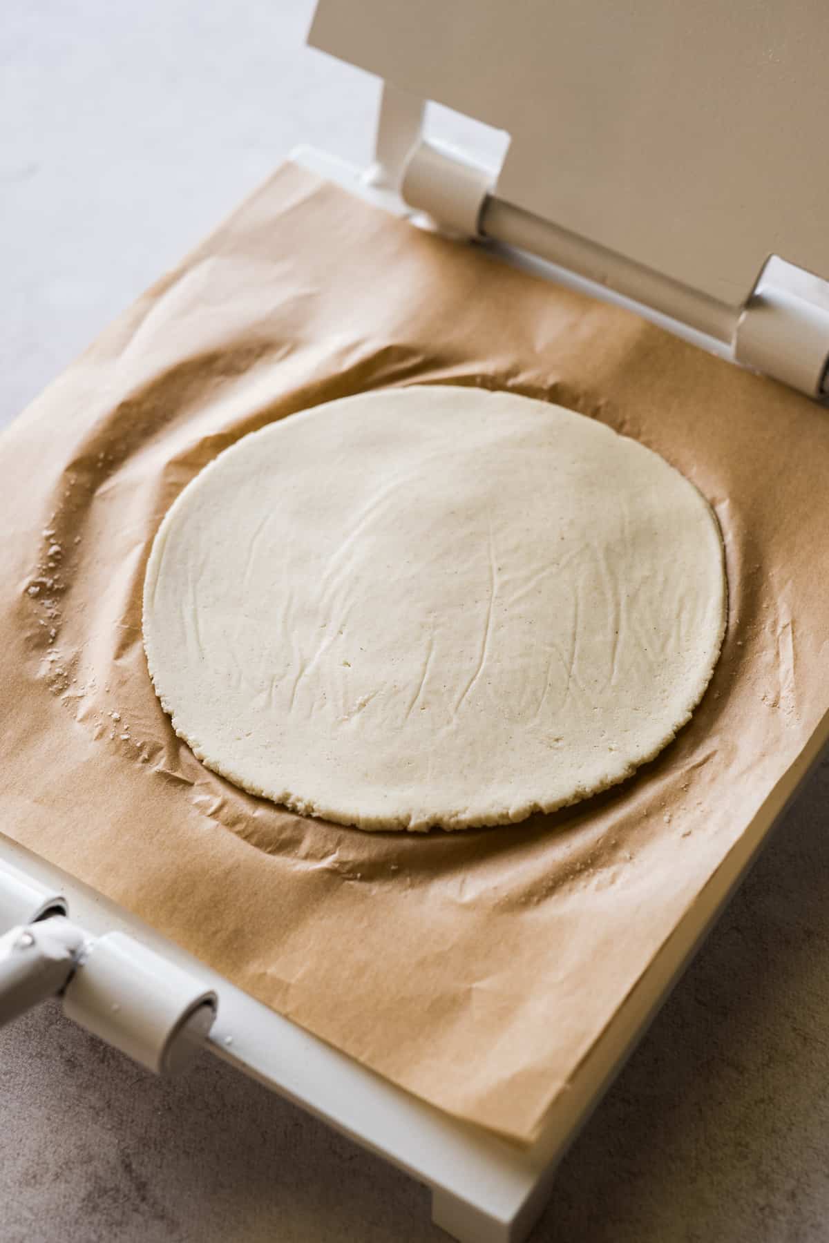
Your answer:
[[[309,44],[383,80],[375,160],[362,170],[308,148],[293,158],[413,226],[630,307],[822,400],[820,30],[829,36],[829,10],[808,0],[769,6],[762,20],[748,0],[321,0]],[[441,140],[431,104],[483,127],[500,165]],[[558,1160],[828,737],[825,722],[528,1149],[383,1081],[5,839],[0,1022],[60,993],[67,1014],[153,1070],[206,1047],[426,1183],[434,1221],[455,1238],[520,1241]]]

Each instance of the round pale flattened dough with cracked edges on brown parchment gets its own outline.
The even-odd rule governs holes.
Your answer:
[[[515,822],[623,781],[698,704],[725,614],[716,518],[661,457],[451,387],[245,436],[172,506],[144,584],[195,755],[364,829]]]

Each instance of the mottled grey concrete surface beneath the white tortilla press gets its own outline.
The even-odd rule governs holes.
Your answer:
[[[0,419],[293,143],[369,152],[308,0],[4,0]],[[815,418],[822,418],[815,411]],[[829,1238],[829,764],[562,1166],[533,1243]],[[426,1192],[205,1058],[0,1033],[0,1243],[421,1243]]]

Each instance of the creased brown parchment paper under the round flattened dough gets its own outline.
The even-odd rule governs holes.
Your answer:
[[[711,500],[728,633],[691,725],[556,817],[365,834],[206,771],[147,674],[153,533],[235,439],[378,385],[549,398]],[[324,444],[319,452],[324,454]],[[0,825],[374,1070],[520,1141],[829,707],[829,419],[291,165],[0,446]]]

